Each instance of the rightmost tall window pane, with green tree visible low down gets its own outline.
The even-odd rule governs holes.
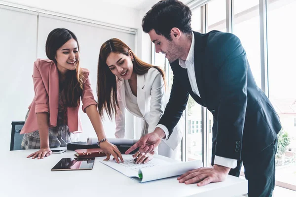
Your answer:
[[[296,186],[296,1],[278,0],[268,5],[269,98],[282,123],[278,134],[276,181]],[[279,38],[284,28],[286,35]],[[285,186],[283,186],[285,187]]]

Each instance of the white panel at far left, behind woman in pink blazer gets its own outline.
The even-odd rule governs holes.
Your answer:
[[[37,27],[36,19],[37,14],[0,9],[0,150],[9,150],[11,121],[24,121],[34,97],[32,73],[37,31],[28,26]]]

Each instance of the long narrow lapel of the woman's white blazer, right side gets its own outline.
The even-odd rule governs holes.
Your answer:
[[[137,102],[143,117],[145,115],[145,104],[146,104],[145,91],[143,90],[144,85],[145,85],[144,74],[141,74],[141,75],[137,74]]]

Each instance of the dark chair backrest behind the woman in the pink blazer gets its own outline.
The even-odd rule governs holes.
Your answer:
[[[25,122],[11,122],[11,139],[10,139],[10,150],[21,150],[21,143],[23,140],[24,134],[20,134]]]

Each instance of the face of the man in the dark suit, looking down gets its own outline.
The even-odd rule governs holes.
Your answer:
[[[174,39],[170,41],[165,36],[158,35],[153,29],[148,34],[151,41],[155,44],[156,53],[161,52],[165,54],[169,62],[174,62],[181,57],[182,49],[176,44]]]

